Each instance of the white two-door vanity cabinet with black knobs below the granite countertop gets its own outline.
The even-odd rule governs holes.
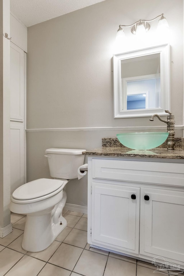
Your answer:
[[[184,269],[184,164],[142,160],[88,157],[88,243]]]

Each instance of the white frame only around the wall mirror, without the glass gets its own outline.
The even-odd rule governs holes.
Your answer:
[[[122,110],[121,60],[160,53],[160,99],[159,108]],[[157,113],[165,115],[170,110],[170,46],[169,44],[139,49],[113,55],[114,118],[145,117]]]

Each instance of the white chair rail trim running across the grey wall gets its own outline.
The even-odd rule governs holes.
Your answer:
[[[165,130],[165,126],[148,127],[71,127],[71,128],[53,128],[53,129],[26,129],[26,132],[49,132],[49,131],[141,131],[141,130]],[[184,126],[175,126],[175,129],[182,130]]]

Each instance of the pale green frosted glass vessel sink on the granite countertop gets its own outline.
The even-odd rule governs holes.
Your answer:
[[[117,138],[122,145],[133,150],[150,150],[164,143],[168,132],[120,133]]]

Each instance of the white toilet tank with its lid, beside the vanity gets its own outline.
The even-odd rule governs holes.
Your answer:
[[[74,179],[78,177],[78,167],[84,164],[86,150],[76,149],[47,149],[45,153],[49,163],[50,176],[61,179]]]

